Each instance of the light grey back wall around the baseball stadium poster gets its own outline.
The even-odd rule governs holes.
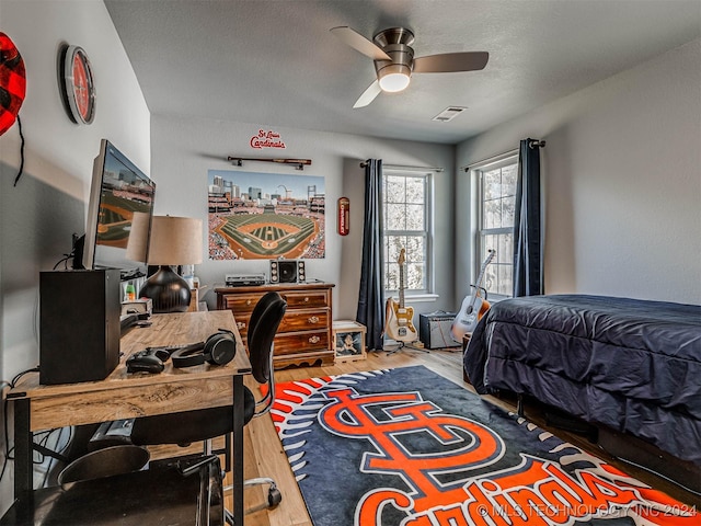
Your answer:
[[[355,319],[360,255],[363,243],[364,170],[360,161],[382,159],[387,164],[443,167],[435,176],[438,205],[435,211],[436,279],[438,300],[412,304],[416,312],[452,308],[452,284],[445,276],[452,275],[452,184],[455,180],[455,147],[435,144],[404,142],[344,134],[329,134],[275,124],[246,124],[206,119],[181,119],[154,115],[151,122],[152,176],[157,181],[156,213],[199,217],[207,225],[207,170],[239,170],[250,172],[321,175],[326,192],[326,258],[306,260],[308,278],[336,285],[333,291],[334,319]],[[280,134],[284,150],[254,150],[250,139],[258,129]],[[285,157],[311,159],[312,164],[297,171],[292,167],[273,163],[244,162],[232,167],[227,156]],[[350,198],[350,233],[336,233],[336,202]],[[448,232],[447,236],[445,233]],[[205,232],[206,233],[206,232]],[[209,287],[221,285],[225,274],[267,273],[268,262],[211,261],[203,247],[204,263],[196,274]],[[210,299],[210,298],[209,298]]]

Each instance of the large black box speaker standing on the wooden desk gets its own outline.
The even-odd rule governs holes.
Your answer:
[[[119,363],[119,271],[39,274],[39,382],[102,380]]]

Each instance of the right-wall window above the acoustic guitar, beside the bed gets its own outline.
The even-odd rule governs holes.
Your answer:
[[[518,157],[476,167],[479,176],[478,241],[475,251],[479,274],[489,250],[496,254],[484,270],[482,287],[489,295],[514,293],[514,208]],[[479,277],[479,275],[478,275]]]

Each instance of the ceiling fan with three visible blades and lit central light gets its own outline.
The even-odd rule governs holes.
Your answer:
[[[409,85],[412,73],[448,73],[484,69],[486,52],[444,53],[414,58],[414,33],[405,27],[380,31],[370,42],[352,27],[333,27],[331,32],[345,44],[375,60],[377,79],[365,90],[353,107],[370,104],[382,91],[398,92]]]

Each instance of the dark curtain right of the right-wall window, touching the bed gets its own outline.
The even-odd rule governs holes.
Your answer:
[[[540,147],[544,142],[524,139],[518,157],[514,216],[514,297],[543,294]]]

